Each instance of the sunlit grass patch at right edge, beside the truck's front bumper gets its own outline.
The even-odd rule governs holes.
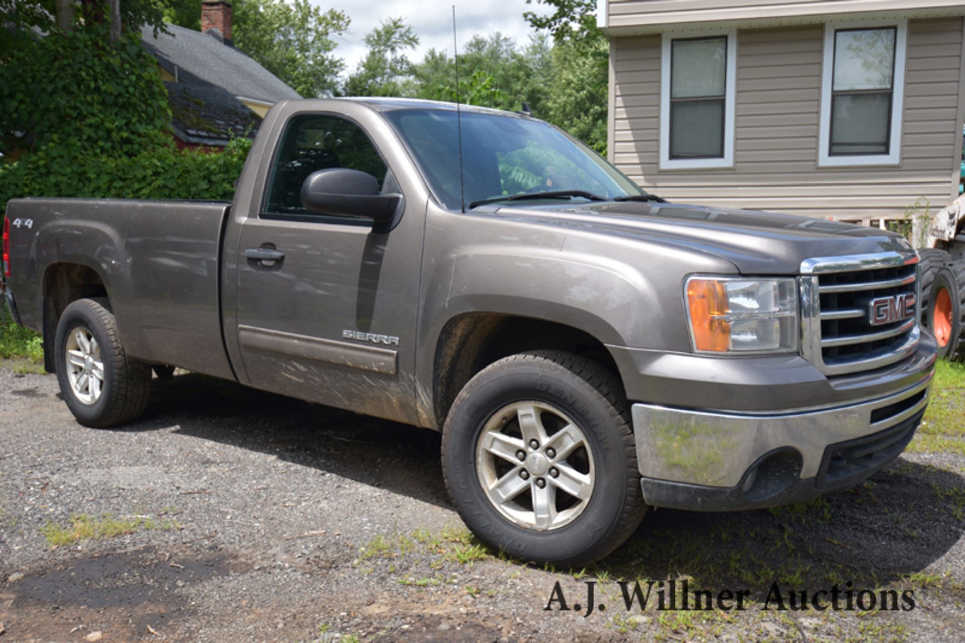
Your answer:
[[[938,362],[931,402],[908,451],[965,456],[965,364]]]

